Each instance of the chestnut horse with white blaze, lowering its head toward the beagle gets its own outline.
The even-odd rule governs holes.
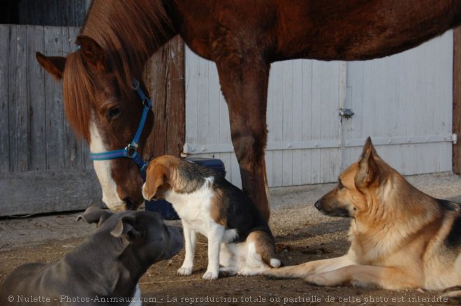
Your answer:
[[[66,115],[92,152],[130,143],[142,104],[131,88],[173,36],[214,61],[228,105],[242,185],[269,219],[264,150],[270,63],[361,60],[413,48],[456,27],[461,0],[95,0],[67,57],[37,59],[64,82]],[[144,85],[141,84],[143,88]],[[147,118],[152,129],[152,115]],[[142,133],[138,152],[144,150]],[[129,159],[94,161],[110,208],[142,202]]]

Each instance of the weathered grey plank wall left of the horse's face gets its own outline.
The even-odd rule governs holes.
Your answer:
[[[0,216],[101,205],[85,140],[64,117],[61,83],[35,52],[75,50],[78,28],[0,25]]]

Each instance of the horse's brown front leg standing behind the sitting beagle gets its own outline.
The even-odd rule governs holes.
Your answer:
[[[219,82],[231,121],[232,143],[240,166],[243,190],[269,220],[268,180],[264,150],[270,64],[261,58],[217,61]]]

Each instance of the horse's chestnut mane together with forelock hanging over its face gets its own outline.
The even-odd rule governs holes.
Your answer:
[[[80,31],[107,52],[106,63],[122,96],[129,96],[131,78],[141,77],[145,61],[173,33],[161,0],[95,0]],[[80,51],[68,54],[63,80],[66,115],[75,133],[87,140],[96,77]]]

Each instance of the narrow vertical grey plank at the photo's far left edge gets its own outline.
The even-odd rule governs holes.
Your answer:
[[[0,41],[7,42],[10,27],[0,24]],[[10,171],[10,128],[8,101],[8,43],[0,44],[0,173]]]

